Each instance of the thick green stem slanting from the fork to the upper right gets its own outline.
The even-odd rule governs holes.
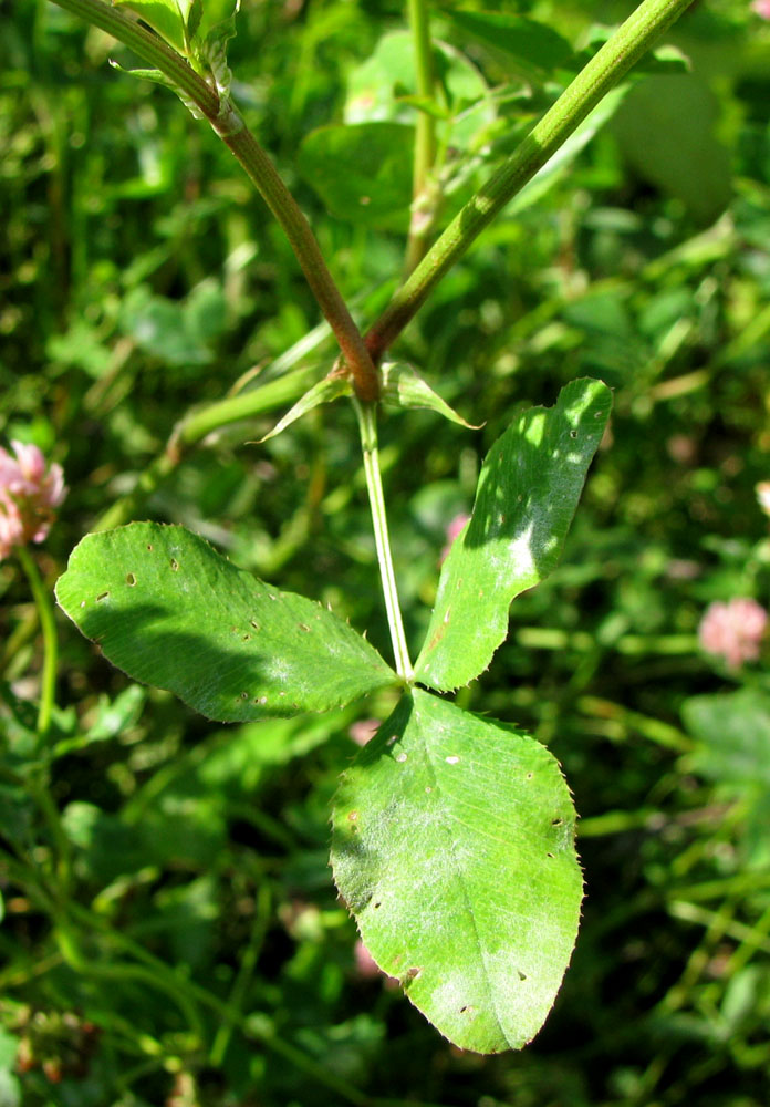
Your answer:
[[[378,362],[445,273],[693,0],[644,0],[466,204],[366,334]]]

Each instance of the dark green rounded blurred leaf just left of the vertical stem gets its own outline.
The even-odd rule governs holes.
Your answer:
[[[300,173],[329,211],[346,223],[406,230],[412,201],[414,127],[360,123],[312,131],[300,147]]]

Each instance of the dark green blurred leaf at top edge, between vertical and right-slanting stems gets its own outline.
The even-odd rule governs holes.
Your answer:
[[[450,10],[441,15],[464,34],[510,54],[524,69],[550,72],[573,62],[572,46],[558,31],[526,15]]]

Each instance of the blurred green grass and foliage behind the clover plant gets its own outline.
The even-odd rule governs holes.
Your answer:
[[[230,52],[235,95],[363,324],[402,266],[410,132],[394,132],[400,161],[392,145],[379,155],[382,205],[346,217],[316,128],[412,125],[408,76],[392,80],[376,53],[405,27],[403,7],[244,0]],[[460,8],[532,15],[579,51],[631,10],[437,6],[445,218],[571,64],[528,66],[469,38]],[[0,15],[0,437],[64,467],[69,498],[35,551],[53,583],[191,405],[290,368],[321,376],[333,345],[323,329],[295,345],[318,309],[206,125],[111,70],[125,52],[53,4],[11,0]],[[52,824],[33,788],[3,777],[2,1107],[770,1100],[768,653],[736,671],[697,640],[711,601],[768,602],[755,486],[770,479],[770,21],[711,0],[668,41],[691,70],[648,66],[397,344],[483,427],[412,412],[382,431],[414,648],[446,528],[470,508],[491,442],[575,377],[615,393],[561,567],[514,602],[507,644],[458,701],[547,743],[582,817],[583,925],[544,1030],[520,1054],[461,1054],[356,960],[327,818],[362,708],[209,724],[132,686],[60,618],[51,788],[73,880],[58,899],[29,878],[50,872]],[[137,496],[134,517],[183,523],[332,602],[389,656],[352,413],[324,407],[253,445],[279,414],[209,435]],[[40,643],[12,560],[0,604],[0,733],[18,767]]]

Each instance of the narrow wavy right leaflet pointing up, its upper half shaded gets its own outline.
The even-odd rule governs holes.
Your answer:
[[[446,692],[478,676],[506,637],[513,597],[555,567],[611,402],[601,381],[573,381],[489,451],[470,523],[441,569],[415,665],[423,684]]]

